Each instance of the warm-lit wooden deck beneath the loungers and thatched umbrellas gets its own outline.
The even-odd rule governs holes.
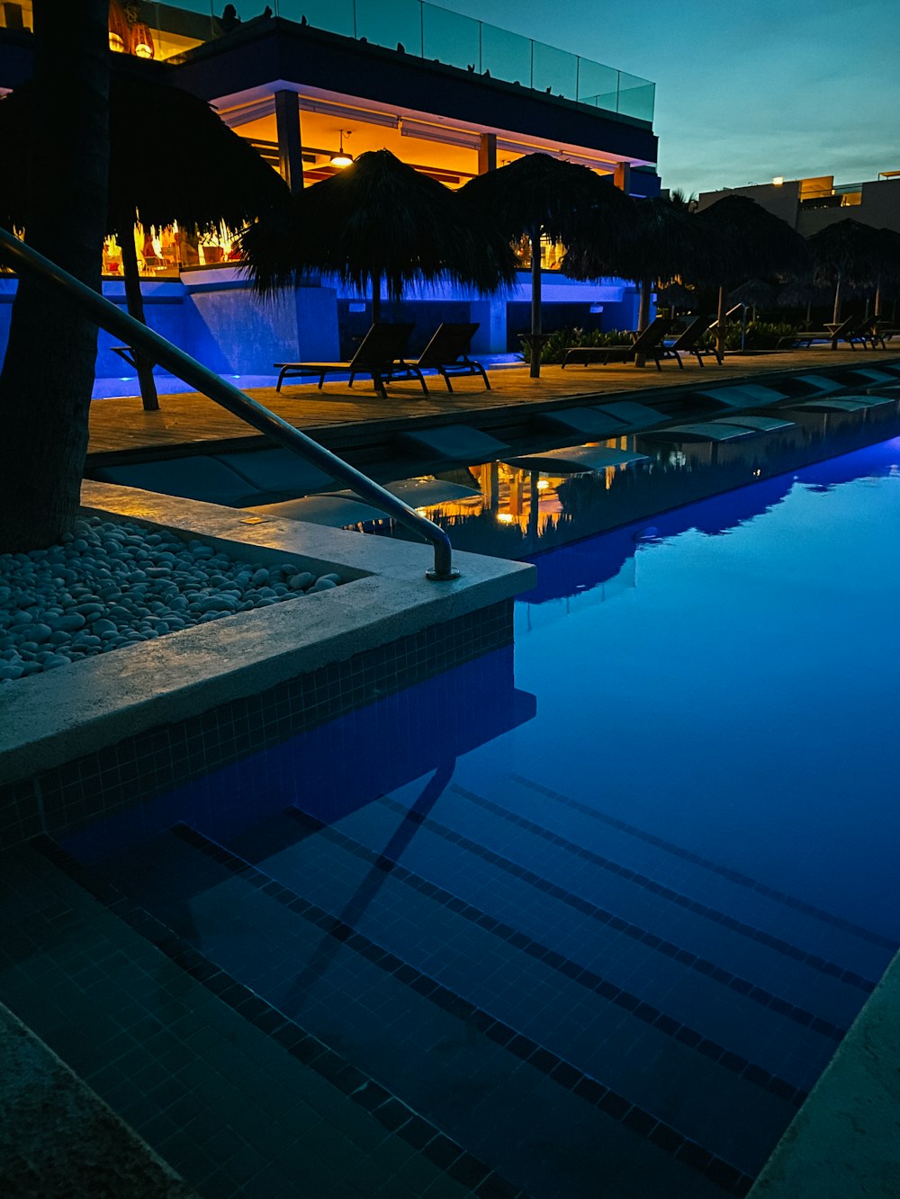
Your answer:
[[[419,420],[427,424],[468,420],[472,423],[497,418],[504,412],[514,418],[518,409],[566,406],[574,403],[601,403],[613,396],[644,392],[653,403],[654,392],[672,388],[692,390],[722,384],[762,381],[766,375],[859,366],[877,368],[894,362],[899,355],[888,351],[862,351],[815,348],[786,354],[730,356],[720,367],[714,362],[700,367],[685,360],[684,370],[676,362],[665,362],[661,372],[650,363],[634,366],[542,368],[540,379],[528,376],[528,367],[508,367],[491,372],[491,391],[476,375],[454,379],[449,393],[439,378],[428,378],[430,394],[422,394],[418,382],[391,384],[388,398],[372,390],[371,380],[358,379],[350,390],[346,382],[326,382],[319,391],[314,384],[287,384],[278,393],[274,387],[247,391],[259,403],[277,412],[296,428],[326,444],[348,439],[377,439],[391,428],[408,428]],[[661,397],[660,397],[661,398]],[[524,414],[522,414],[524,415]],[[256,438],[258,434],[236,416],[196,392],[161,396],[158,412],[144,412],[134,397],[96,399],[90,412],[90,454],[121,454],[148,450],[184,452],[191,447]]]

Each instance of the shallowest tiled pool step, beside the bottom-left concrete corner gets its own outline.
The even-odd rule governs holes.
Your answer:
[[[4,857],[0,918],[0,1000],[204,1199],[470,1197],[56,860]]]

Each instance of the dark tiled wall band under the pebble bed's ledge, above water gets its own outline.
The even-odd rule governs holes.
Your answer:
[[[512,601],[0,787],[0,848],[65,836],[512,641]]]

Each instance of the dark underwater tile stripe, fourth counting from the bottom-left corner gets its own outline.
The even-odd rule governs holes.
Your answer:
[[[470,794],[460,787],[454,787],[454,790],[461,791],[467,796]],[[734,990],[739,995],[746,996],[746,999],[750,999],[754,1004],[760,1004],[761,1007],[767,1007],[773,1012],[778,1012],[779,1016],[784,1016],[788,1020],[793,1020],[794,1024],[800,1024],[804,1029],[811,1029],[814,1032],[818,1032],[821,1036],[828,1037],[834,1042],[841,1041],[846,1034],[846,1029],[839,1029],[836,1024],[832,1024],[829,1020],[823,1020],[818,1016],[814,1016],[812,1012],[808,1012],[803,1007],[788,1004],[787,1000],[780,999],[778,995],[773,995],[772,992],[766,990],[764,987],[757,987],[746,978],[740,978],[738,975],[733,975],[731,971],[724,970],[714,962],[708,962],[706,958],[698,958],[696,953],[691,953],[689,950],[683,950],[672,941],[666,941],[664,938],[656,936],[655,933],[650,933],[649,929],[641,928],[640,924],[632,924],[630,921],[623,920],[622,916],[616,916],[613,912],[606,911],[605,908],[599,908],[596,904],[590,903],[589,899],[583,899],[581,896],[572,894],[571,891],[566,891],[565,887],[560,887],[558,884],[551,882],[540,874],[535,874],[534,870],[529,870],[527,867],[520,866],[509,857],[503,857],[502,854],[497,854],[492,849],[486,849],[484,845],[479,845],[478,842],[470,840],[462,833],[455,832],[452,829],[448,829],[446,825],[439,824],[432,817],[422,817],[418,812],[412,812],[409,808],[404,808],[401,803],[397,803],[396,800],[390,800],[386,796],[380,796],[378,802],[390,807],[394,812],[408,814],[408,819],[439,833],[439,836],[444,837],[445,840],[452,842],[455,845],[460,845],[470,854],[475,854],[478,857],[484,858],[484,861],[490,862],[492,866],[497,866],[506,874],[512,874],[515,878],[522,879],[523,882],[528,882],[538,891],[542,891],[545,894],[552,896],[554,899],[559,899],[562,903],[568,904],[568,906],[575,908],[576,911],[589,916],[592,920],[596,920],[599,923],[616,929],[617,933],[624,933],[625,936],[630,936],[634,941],[641,941],[641,944],[648,946],[648,948],[652,948],[658,953],[662,953],[667,958],[672,958],[674,962],[679,962],[688,970],[694,970],[696,974],[701,974],[713,982],[720,983],[722,987],[727,987],[730,990]]]

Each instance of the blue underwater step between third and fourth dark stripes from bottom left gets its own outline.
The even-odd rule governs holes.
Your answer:
[[[395,836],[397,818],[396,805],[384,800],[346,818],[340,829],[395,856],[400,833],[390,850],[384,846]],[[446,826],[431,817],[416,820],[402,837],[404,864],[419,866],[420,873],[427,872],[461,898],[637,994],[677,1025],[688,1025],[804,1089],[834,1053],[838,1030],[816,1024],[811,1013],[802,1016],[773,995],[772,971],[761,975],[758,984],[754,978],[751,990],[713,963],[704,964],[653,933],[643,935],[640,927],[574,896],[564,874],[562,886],[547,882],[504,855],[448,838]]]

